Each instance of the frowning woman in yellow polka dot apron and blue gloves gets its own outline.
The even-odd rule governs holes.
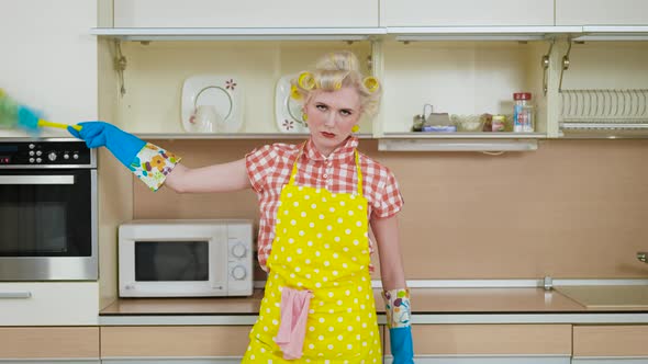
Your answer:
[[[259,197],[258,257],[268,272],[244,363],[381,363],[371,291],[370,224],[380,252],[393,363],[413,363],[410,303],[398,241],[402,198],[393,174],[357,151],[380,86],[348,52],[329,54],[292,81],[310,138],[276,144],[223,164],[189,169],[166,150],[105,123],[71,134],[105,146],[153,190]]]

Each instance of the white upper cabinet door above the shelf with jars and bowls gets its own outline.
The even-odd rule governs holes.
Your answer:
[[[554,0],[383,0],[381,4],[381,26],[554,25]]]

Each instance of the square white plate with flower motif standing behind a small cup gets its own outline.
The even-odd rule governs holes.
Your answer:
[[[210,133],[191,117],[195,107],[211,105],[217,113],[211,128],[216,133],[236,133],[243,126],[241,79],[228,75],[198,75],[182,84],[182,127],[188,133]]]

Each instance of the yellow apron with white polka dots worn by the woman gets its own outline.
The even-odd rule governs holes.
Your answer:
[[[295,185],[300,156],[281,191],[265,296],[243,363],[382,363],[358,152],[357,194]],[[303,354],[294,360],[275,342],[283,287],[312,293]]]

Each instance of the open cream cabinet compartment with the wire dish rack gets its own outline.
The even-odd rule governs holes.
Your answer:
[[[579,136],[646,136],[648,130],[648,43],[605,37],[565,43],[556,116],[560,133]]]

